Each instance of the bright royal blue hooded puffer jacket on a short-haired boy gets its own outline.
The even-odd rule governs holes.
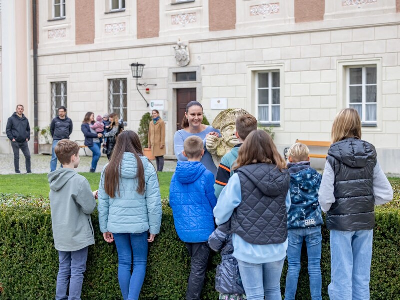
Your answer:
[[[178,161],[169,188],[176,232],[184,242],[205,242],[214,231],[214,175],[198,161]]]

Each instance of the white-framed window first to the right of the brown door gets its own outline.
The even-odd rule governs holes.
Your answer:
[[[280,72],[258,72],[255,79],[258,122],[265,125],[280,123]]]

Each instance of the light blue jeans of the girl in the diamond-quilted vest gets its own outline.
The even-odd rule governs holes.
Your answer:
[[[282,300],[280,276],[284,259],[267,263],[248,263],[237,259],[247,300]]]

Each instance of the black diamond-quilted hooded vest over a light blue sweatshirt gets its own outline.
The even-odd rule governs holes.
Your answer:
[[[280,171],[274,164],[256,163],[242,166],[235,173],[240,178],[242,200],[232,214],[232,232],[251,244],[284,242],[288,171]]]

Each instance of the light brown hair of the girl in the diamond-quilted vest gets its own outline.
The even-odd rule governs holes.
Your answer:
[[[272,138],[263,130],[252,131],[247,136],[243,145],[240,147],[234,169],[253,163],[276,164],[279,170],[287,168]]]

